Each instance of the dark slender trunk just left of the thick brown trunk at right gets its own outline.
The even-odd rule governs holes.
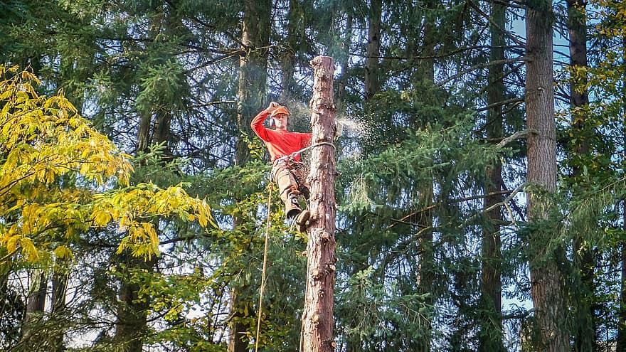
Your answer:
[[[506,2],[491,1],[492,14],[489,25],[491,33],[491,52],[489,60],[504,60],[504,26],[506,25]],[[487,139],[497,140],[502,137],[504,107],[498,105],[505,100],[504,64],[490,65],[487,75],[487,105],[494,106],[487,112]],[[484,208],[492,208],[485,213],[482,228],[482,272],[480,276],[481,311],[479,349],[484,352],[504,351],[502,341],[502,274],[500,255],[500,225],[502,202],[502,163],[497,160],[487,168],[487,184],[484,187],[487,197]]]

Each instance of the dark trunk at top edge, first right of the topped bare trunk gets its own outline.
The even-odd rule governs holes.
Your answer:
[[[380,89],[378,77],[378,60],[381,56],[381,21],[383,16],[383,1],[371,0],[369,26],[367,31],[367,53],[365,59],[365,101],[373,97]]]

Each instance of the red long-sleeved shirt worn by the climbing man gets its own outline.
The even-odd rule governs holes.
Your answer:
[[[259,112],[255,118],[252,119],[250,126],[255,134],[265,142],[272,161],[306,148],[311,144],[312,136],[310,133],[288,132],[281,131],[280,129],[265,128],[263,122],[265,122],[265,119],[267,119],[269,115],[270,111],[267,110]],[[294,159],[299,161],[300,156],[297,155]]]

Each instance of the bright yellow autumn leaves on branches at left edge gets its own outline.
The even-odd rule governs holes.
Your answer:
[[[33,83],[41,83],[33,73],[0,65],[0,246],[9,254],[68,258],[70,247],[59,242],[117,225],[124,233],[118,251],[149,257],[159,252],[157,217],[215,225],[206,202],[182,185],[129,186],[130,156],[80,117],[62,92],[42,97]],[[63,188],[59,180],[66,176],[81,186]],[[112,181],[118,188],[97,191]]]

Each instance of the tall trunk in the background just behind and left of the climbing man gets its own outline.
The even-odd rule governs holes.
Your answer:
[[[252,136],[250,122],[260,107],[265,106],[267,100],[267,55],[270,45],[270,31],[272,29],[270,16],[272,1],[246,0],[243,14],[243,43],[242,55],[239,63],[239,107],[237,127],[240,132]],[[248,161],[250,151],[248,144],[242,137],[235,142],[235,164],[243,165]],[[243,220],[233,220],[235,228],[240,227]],[[230,338],[228,352],[245,352],[248,348],[248,335],[252,331],[249,324],[243,323],[247,318],[253,318],[253,311],[243,309],[249,299],[241,293],[244,287],[230,287]],[[249,311],[248,316],[243,312]],[[247,319],[254,321],[254,319]]]

